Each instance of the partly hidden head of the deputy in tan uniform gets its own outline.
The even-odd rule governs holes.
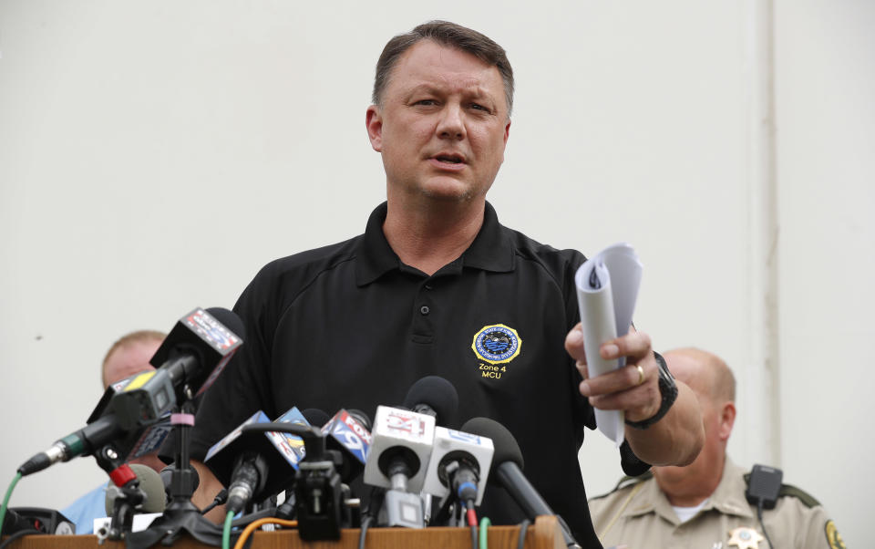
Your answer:
[[[705,445],[686,467],[654,467],[654,475],[670,501],[673,496],[679,499],[693,495],[703,496],[704,500],[723,474],[726,443],[736,420],[736,378],[720,357],[701,349],[674,349],[664,358],[674,377],[693,389],[699,400]]]

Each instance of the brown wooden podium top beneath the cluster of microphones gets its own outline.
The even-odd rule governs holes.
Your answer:
[[[359,530],[348,529],[341,533],[336,542],[304,542],[297,530],[278,532],[256,532],[252,535],[252,549],[356,549]],[[520,538],[519,526],[490,526],[490,549],[517,547]],[[176,549],[203,549],[210,545],[201,544],[190,537],[183,537]],[[471,546],[471,533],[467,528],[426,528],[412,530],[407,528],[368,528],[365,549],[468,549]],[[155,545],[162,547],[162,545]],[[555,516],[540,516],[530,525],[526,533],[526,549],[565,549],[559,523]],[[28,535],[15,540],[9,549],[125,549],[124,542],[106,542],[98,545],[95,535]]]

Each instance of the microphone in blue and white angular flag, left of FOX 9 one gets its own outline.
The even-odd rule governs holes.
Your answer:
[[[297,408],[289,409],[276,422],[310,425]],[[293,481],[304,459],[304,441],[296,435],[244,430],[258,423],[270,423],[261,410],[213,444],[204,459],[216,478],[228,486],[229,509],[232,505],[242,509],[253,499],[282,491]]]

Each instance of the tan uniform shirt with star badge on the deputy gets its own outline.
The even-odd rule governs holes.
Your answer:
[[[651,477],[590,500],[592,524],[605,547],[767,549],[757,508],[745,499],[745,472],[727,459],[717,489],[685,523]],[[823,507],[796,497],[780,497],[775,509],[763,512],[763,522],[775,549],[844,548]]]

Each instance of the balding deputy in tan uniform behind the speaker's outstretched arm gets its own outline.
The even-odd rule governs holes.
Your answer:
[[[719,357],[686,348],[665,354],[674,376],[693,389],[705,421],[705,447],[686,467],[654,467],[590,500],[602,544],[703,549],[844,548],[826,510],[807,493],[782,485],[774,509],[746,499],[749,475],[726,457],[736,419],[736,380]],[[777,484],[776,484],[777,485]]]

